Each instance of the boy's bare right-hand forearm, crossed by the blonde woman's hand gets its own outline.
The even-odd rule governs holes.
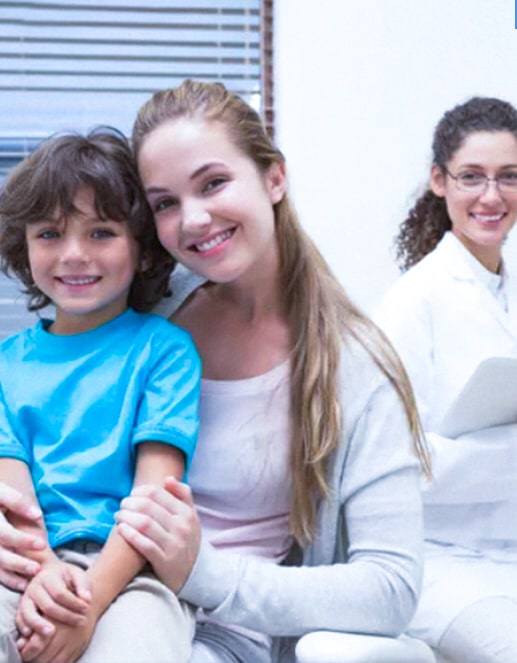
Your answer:
[[[165,477],[173,475],[181,479],[184,471],[185,456],[176,447],[161,442],[141,442],[138,445],[134,486],[163,486]],[[87,571],[97,617],[102,615],[145,563],[145,558],[126,543],[114,527],[100,555]]]

